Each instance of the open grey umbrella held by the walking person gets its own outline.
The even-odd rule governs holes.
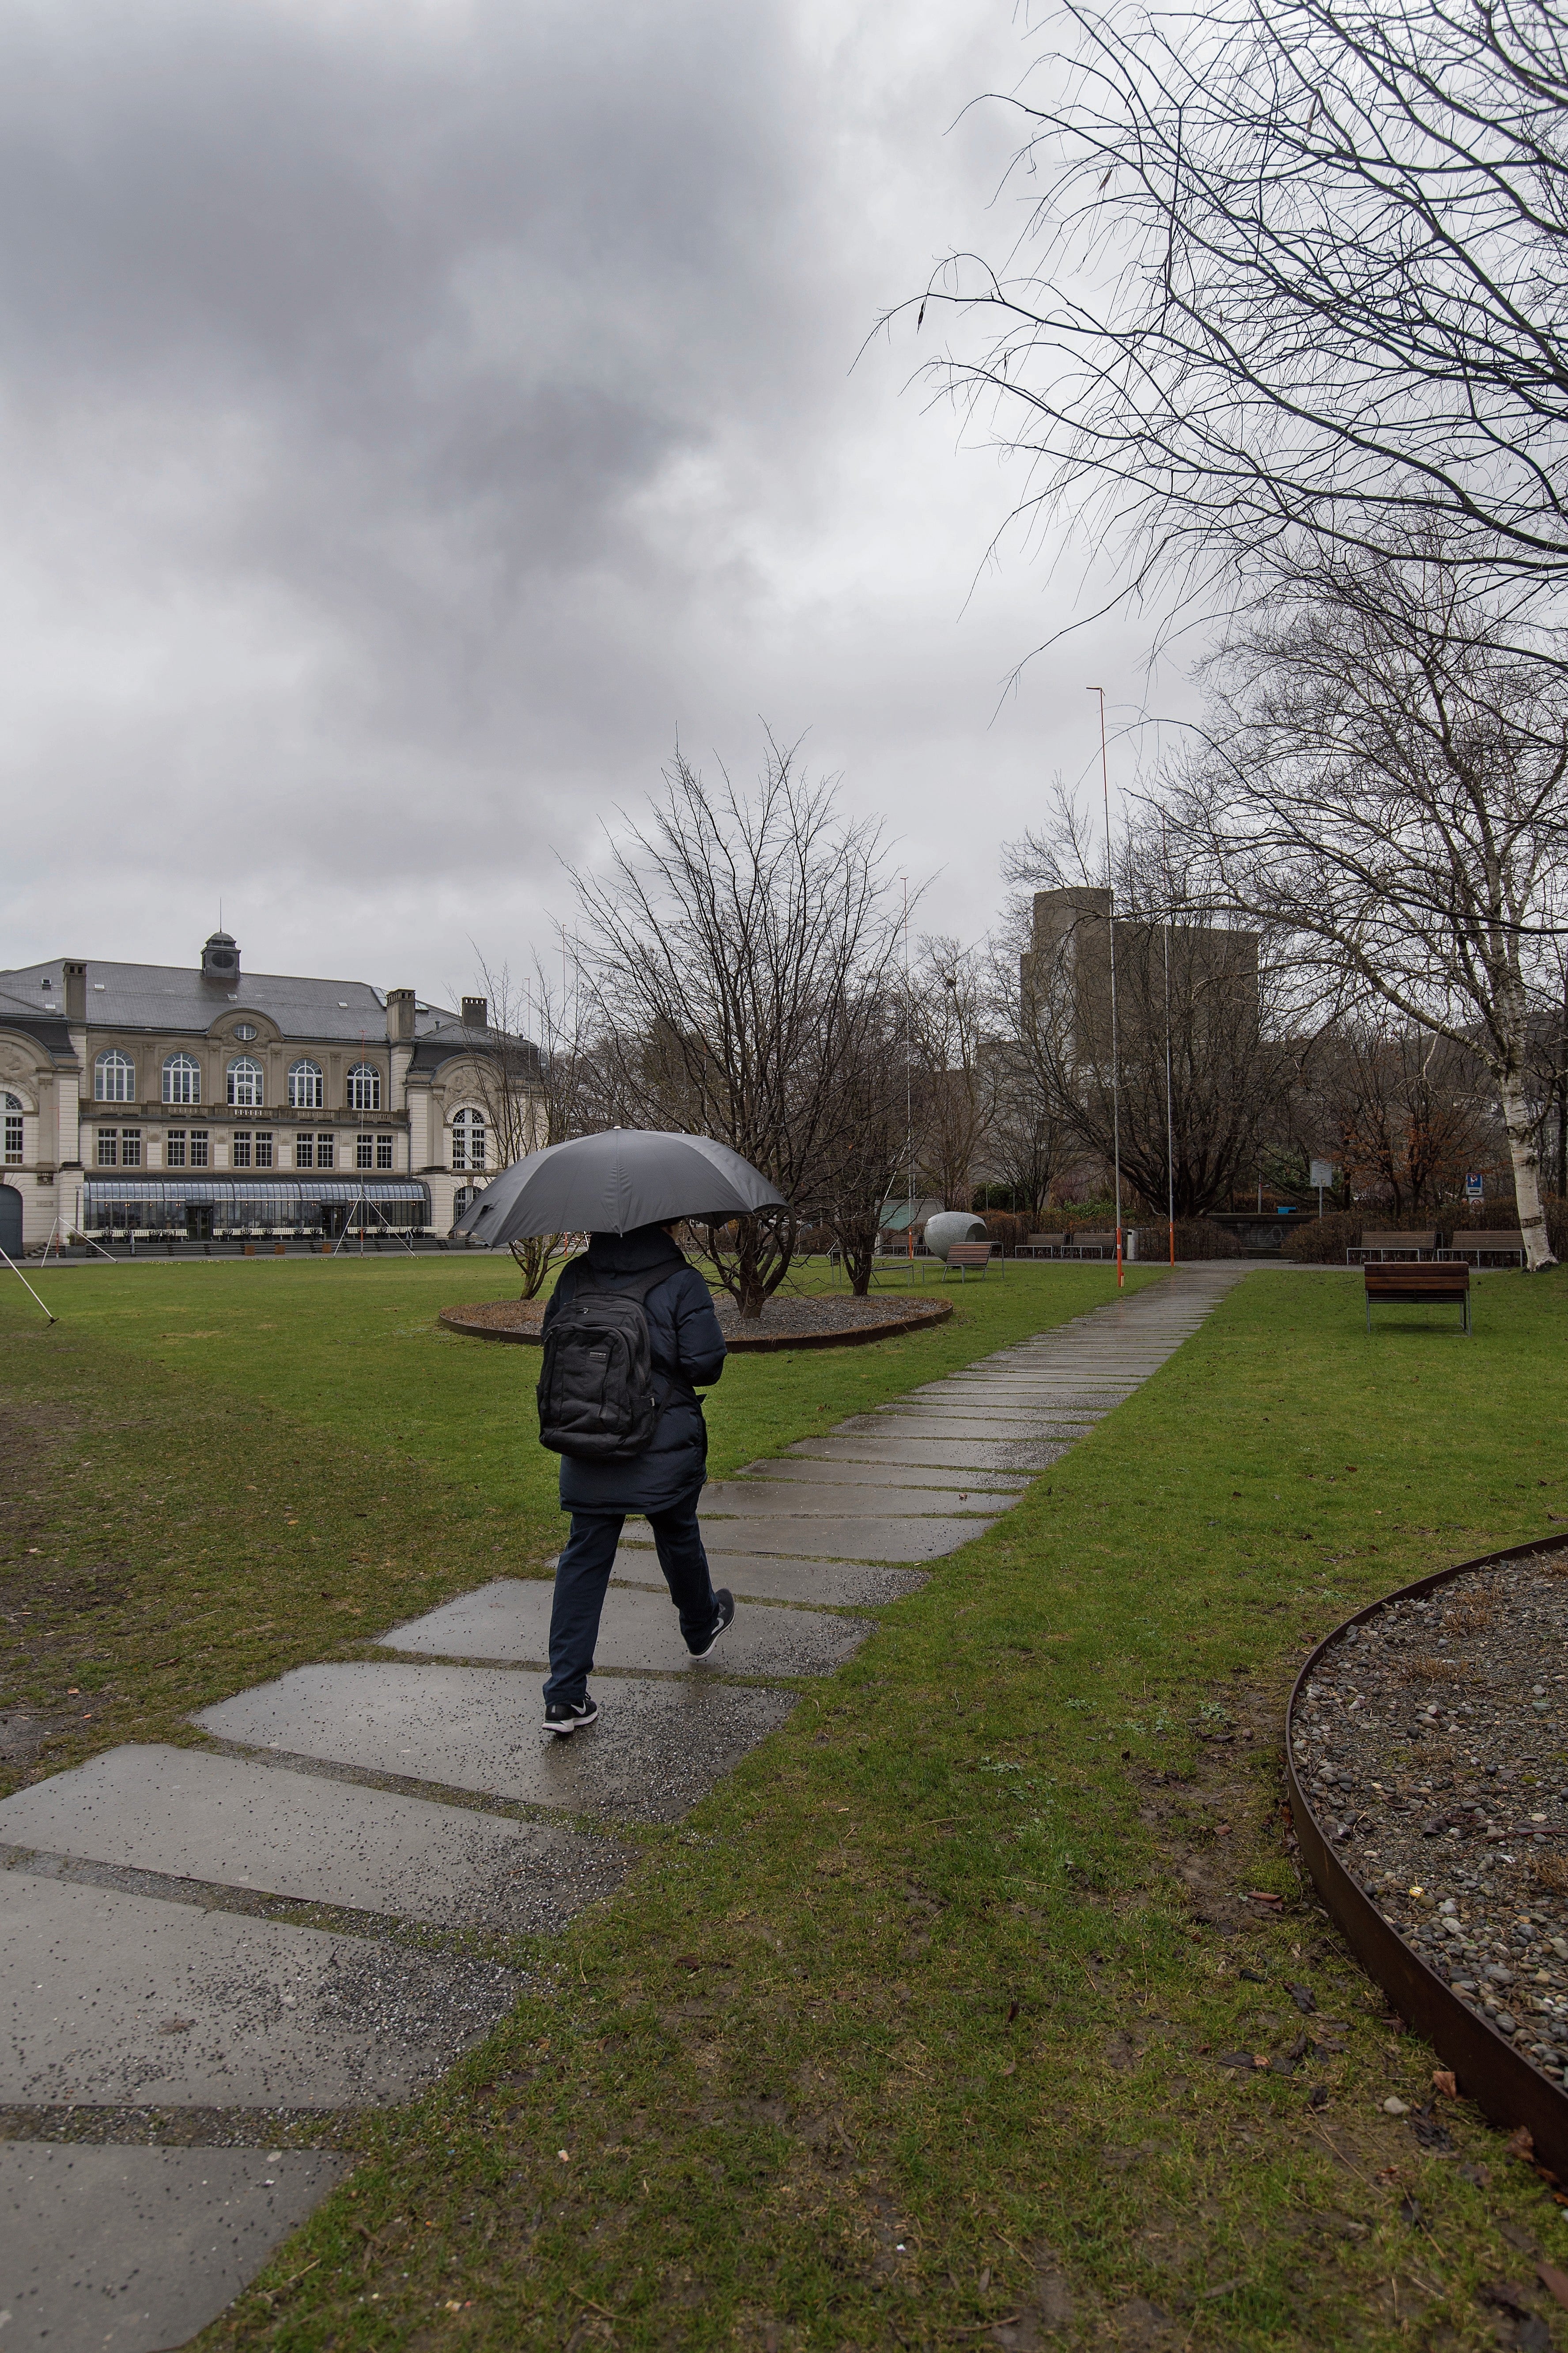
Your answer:
[[[501,1169],[470,1200],[454,1233],[520,1242],[527,1233],[630,1233],[668,1217],[748,1217],[783,1209],[766,1176],[712,1136],[611,1127],[545,1144]]]

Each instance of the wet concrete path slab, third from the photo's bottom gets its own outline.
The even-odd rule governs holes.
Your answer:
[[[160,1746],[5,1798],[0,1845],[515,1934],[559,1927],[630,1864],[607,1838]]]

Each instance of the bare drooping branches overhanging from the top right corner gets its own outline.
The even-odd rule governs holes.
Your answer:
[[[1037,459],[1020,513],[1098,501],[1135,576],[1206,579],[1436,513],[1458,560],[1561,581],[1561,12],[1067,0],[1053,21],[1067,45],[1006,101],[1027,226],[919,296],[964,336],[936,381]]]

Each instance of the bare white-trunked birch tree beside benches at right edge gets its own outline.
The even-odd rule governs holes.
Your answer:
[[[1528,1061],[1563,936],[1559,664],[1439,544],[1281,576],[1211,678],[1211,746],[1164,795],[1197,889],[1288,936],[1328,993],[1474,1049],[1528,1264],[1552,1264]]]

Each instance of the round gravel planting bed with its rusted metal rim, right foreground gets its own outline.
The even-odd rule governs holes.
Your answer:
[[[1495,2122],[1568,2177],[1568,1548],[1403,1586],[1321,1642],[1288,1711],[1328,1911]]]

